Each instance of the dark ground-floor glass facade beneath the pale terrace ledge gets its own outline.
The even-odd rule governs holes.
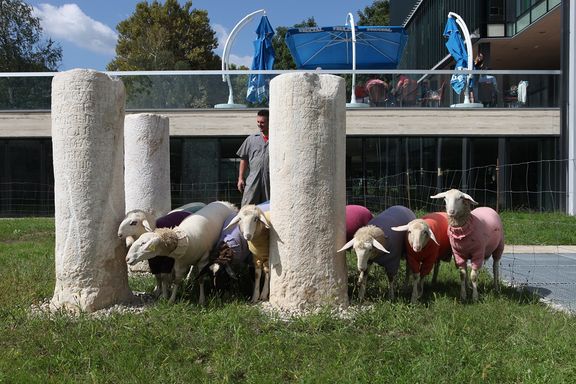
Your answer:
[[[172,205],[217,199],[239,204],[236,150],[244,137],[172,137]],[[556,211],[562,161],[558,138],[349,136],[346,141],[348,204],[374,212],[403,204],[441,209],[429,197],[459,188],[482,205]],[[1,139],[0,216],[54,214],[52,144],[49,138]]]

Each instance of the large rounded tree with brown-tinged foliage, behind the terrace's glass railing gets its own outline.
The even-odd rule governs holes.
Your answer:
[[[139,2],[117,26],[116,57],[110,71],[220,69],[218,46],[205,10],[176,0]],[[130,95],[128,108],[206,108],[209,97],[224,98],[225,88],[205,76],[123,78]],[[219,93],[218,93],[219,92]]]

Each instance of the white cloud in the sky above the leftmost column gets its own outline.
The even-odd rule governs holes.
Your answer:
[[[44,33],[54,40],[65,40],[96,53],[115,53],[118,34],[87,16],[76,4],[39,4],[34,15],[40,18]]]

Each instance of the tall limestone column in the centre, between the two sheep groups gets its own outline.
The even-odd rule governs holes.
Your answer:
[[[346,307],[344,79],[310,73],[270,82],[270,304]]]

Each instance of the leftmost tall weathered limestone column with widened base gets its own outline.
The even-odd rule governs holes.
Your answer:
[[[52,80],[52,147],[56,220],[56,287],[52,308],[93,312],[133,298],[124,217],[120,80],[92,70]]]

